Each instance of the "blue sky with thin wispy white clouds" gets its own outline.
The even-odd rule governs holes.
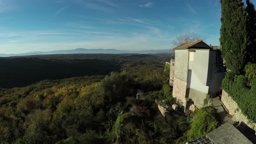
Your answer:
[[[0,0],[0,53],[170,49],[198,33],[219,45],[219,0]]]

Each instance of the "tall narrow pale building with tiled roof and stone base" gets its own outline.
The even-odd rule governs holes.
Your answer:
[[[202,40],[196,40],[183,43],[174,50],[175,59],[170,62],[173,97],[185,111],[192,104],[203,107],[208,94],[215,97],[221,92],[226,69],[220,49],[213,49]]]

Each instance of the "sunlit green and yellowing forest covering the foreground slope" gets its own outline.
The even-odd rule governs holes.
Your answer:
[[[143,56],[127,56],[121,72],[105,76],[0,88],[1,143],[181,144],[217,127],[212,108],[164,118],[158,103],[175,102],[169,66],[161,56]],[[148,92],[136,98],[138,88]]]

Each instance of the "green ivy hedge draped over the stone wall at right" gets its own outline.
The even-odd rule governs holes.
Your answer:
[[[243,115],[253,123],[256,122],[256,77],[253,78],[251,89],[248,90],[243,87],[246,80],[244,75],[237,76],[236,82],[233,82],[233,75],[226,72],[225,79],[223,79],[223,89],[236,101],[238,107],[241,109]]]

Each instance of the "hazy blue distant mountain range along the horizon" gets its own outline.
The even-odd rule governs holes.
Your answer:
[[[157,54],[171,53],[171,49],[161,50],[118,50],[118,49],[71,49],[71,50],[55,50],[50,52],[26,52],[18,54],[0,54],[0,57],[8,56],[31,56],[31,55],[52,55],[52,54],[75,54],[75,53],[106,53],[106,54],[121,54],[121,53],[139,53],[139,54]]]

